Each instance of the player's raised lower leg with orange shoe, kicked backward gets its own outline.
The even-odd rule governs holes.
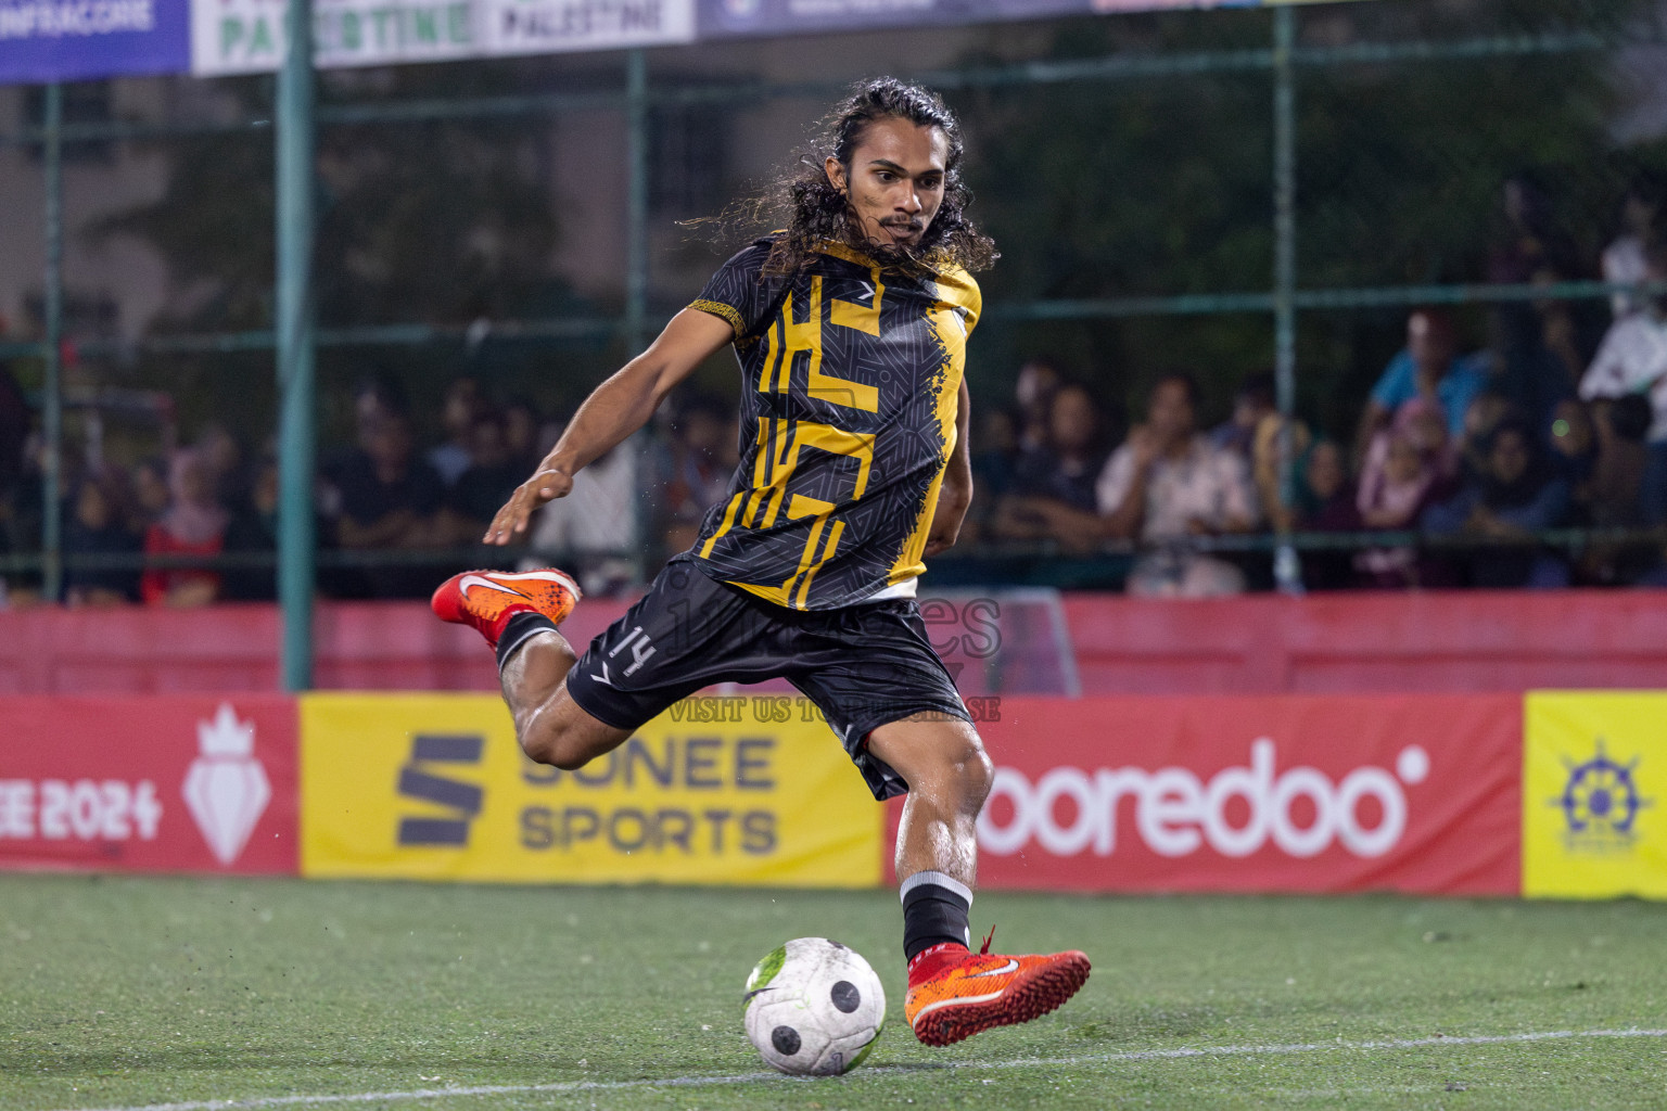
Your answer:
[[[557,768],[582,768],[630,736],[597,721],[567,693],[577,655],[557,626],[577,601],[578,586],[555,568],[465,571],[440,583],[430,601],[442,620],[487,638],[522,750]]]

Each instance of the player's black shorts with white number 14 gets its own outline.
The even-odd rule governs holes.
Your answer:
[[[914,600],[787,610],[673,560],[567,673],[580,710],[635,730],[713,683],[785,678],[839,735],[875,798],[909,790],[869,733],[917,713],[970,721]]]

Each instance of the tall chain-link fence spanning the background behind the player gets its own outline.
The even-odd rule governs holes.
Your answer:
[[[1004,253],[969,356],[982,493],[942,581],[1649,581],[1655,380],[1582,381],[1617,321],[1657,320],[1659,17],[1369,2],[322,72],[318,588],[522,558],[628,588],[687,543],[733,461],[722,358],[538,551],[468,541],[737,247],[688,222],[767,188],[879,72],[962,113]],[[277,95],[10,92],[13,598],[273,595]],[[1237,478],[1114,526],[1154,386]]]

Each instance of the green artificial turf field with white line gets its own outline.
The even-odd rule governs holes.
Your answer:
[[[1084,993],[949,1051],[889,893],[0,876],[0,1108],[1659,1108],[1667,906],[984,894]],[[889,981],[839,1079],[740,986],[827,934]]]

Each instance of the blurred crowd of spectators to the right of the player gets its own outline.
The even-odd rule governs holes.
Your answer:
[[[1650,291],[1667,281],[1667,195],[1640,178],[1625,197],[1600,273],[1639,288],[1609,305],[1555,298],[1555,285],[1592,275],[1544,192],[1514,178],[1504,200],[1512,233],[1485,278],[1547,295],[1494,306],[1475,350],[1444,310],[1412,310],[1352,436],[1284,420],[1270,373],[1204,428],[1197,380],[1174,371],[1112,446],[1092,388],[1037,358],[1012,406],[982,418],[977,535],[1065,553],[1137,541],[1127,588],[1154,596],[1267,585],[1265,556],[1209,538],[1285,530],[1435,541],[1310,550],[1310,590],[1667,581],[1652,543],[1535,543],[1549,530],[1667,521],[1667,296]]]

